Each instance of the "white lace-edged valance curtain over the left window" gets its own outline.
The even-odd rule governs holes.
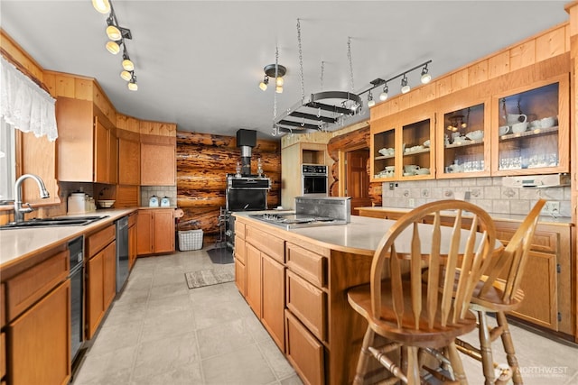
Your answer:
[[[56,100],[2,57],[0,75],[0,118],[24,133],[46,135],[54,142]]]

